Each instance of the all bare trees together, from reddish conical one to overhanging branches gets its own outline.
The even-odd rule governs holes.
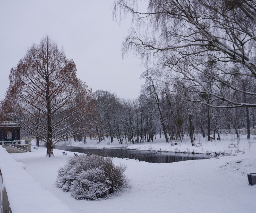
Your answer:
[[[15,116],[30,135],[53,145],[67,137],[81,140],[110,136],[119,143],[153,141],[193,144],[197,133],[218,135],[220,129],[255,125],[255,1],[149,0],[147,11],[137,1],[114,1],[113,17],[132,14],[123,55],[141,56],[145,83],[137,99],[92,92],[76,76],[73,60],[48,36],[34,44],[11,70],[1,114]]]

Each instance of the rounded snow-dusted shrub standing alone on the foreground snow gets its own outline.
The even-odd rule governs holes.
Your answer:
[[[75,199],[108,198],[114,191],[131,188],[124,175],[126,166],[114,165],[112,159],[98,155],[72,156],[58,170],[56,185]]]

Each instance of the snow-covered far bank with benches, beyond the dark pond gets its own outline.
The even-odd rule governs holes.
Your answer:
[[[64,146],[76,146],[76,147],[88,147],[88,148],[124,148],[127,149],[136,149],[136,150],[151,150],[151,151],[162,151],[162,152],[186,152],[186,153],[201,153],[201,154],[223,154],[223,155],[235,155],[238,150],[242,153],[256,153],[256,140],[254,135],[251,135],[251,139],[246,139],[247,135],[241,135],[239,141],[239,146],[236,148],[228,148],[229,144],[237,144],[237,138],[232,134],[221,134],[221,140],[214,140],[213,142],[208,142],[207,137],[203,138],[198,135],[195,143],[201,143],[202,146],[191,146],[190,139],[185,136],[182,143],[180,140],[173,141],[170,143],[165,142],[165,138],[159,138],[159,135],[156,136],[153,142],[139,143],[139,144],[119,144],[117,139],[114,139],[113,143],[108,145],[109,140],[103,140],[97,144],[98,140],[90,140],[87,138],[87,143],[84,144],[83,141],[74,141],[73,138],[69,138],[69,141],[63,141],[56,145]],[[178,145],[172,146],[173,142],[177,142]],[[35,142],[33,142],[35,143]],[[35,145],[35,144],[33,144]]]

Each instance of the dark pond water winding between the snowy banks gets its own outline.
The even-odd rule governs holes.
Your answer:
[[[149,163],[172,163],[177,161],[188,161],[198,159],[208,159],[215,156],[206,154],[191,153],[172,153],[172,152],[156,152],[156,151],[138,151],[128,149],[94,149],[94,148],[71,148],[69,146],[56,146],[56,149],[62,149],[70,152],[80,152],[84,154],[94,153],[109,157],[121,157],[138,159]]]

